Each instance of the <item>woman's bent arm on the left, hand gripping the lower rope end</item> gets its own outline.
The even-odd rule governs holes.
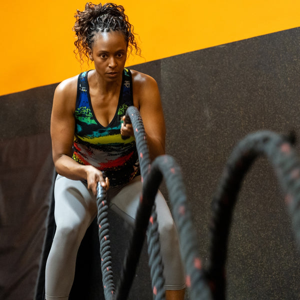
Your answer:
[[[72,158],[76,94],[77,76],[62,81],[55,89],[50,125],[52,157],[58,174],[73,180],[87,180],[88,188],[96,194],[97,182],[107,189],[108,178],[104,180],[100,170]]]

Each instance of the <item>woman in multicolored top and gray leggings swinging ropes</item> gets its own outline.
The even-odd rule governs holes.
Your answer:
[[[68,298],[78,247],[97,213],[98,181],[107,190],[110,208],[133,223],[141,182],[132,125],[122,122],[129,105],[139,109],[151,159],[164,154],[157,84],[146,74],[124,68],[127,48],[139,51],[132,29],[120,5],[86,3],[83,11],[77,10],[75,45],[81,59],[86,55],[94,62],[94,69],[62,81],[54,93],[51,139],[58,175],[56,232],[46,264],[47,300]],[[183,299],[177,232],[161,193],[155,201],[166,299]]]

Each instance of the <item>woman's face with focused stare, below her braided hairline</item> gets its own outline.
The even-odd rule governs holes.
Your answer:
[[[127,43],[120,31],[98,32],[88,55],[104,80],[119,79],[127,57]]]

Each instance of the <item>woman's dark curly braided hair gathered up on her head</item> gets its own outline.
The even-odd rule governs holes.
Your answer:
[[[74,52],[79,54],[80,60],[84,61],[84,56],[88,58],[87,48],[92,47],[94,35],[101,31],[120,31],[127,42],[130,53],[133,48],[135,53],[140,55],[140,48],[137,46],[133,26],[129,23],[127,15],[124,13],[122,5],[114,3],[85,4],[85,9],[75,14],[75,31],[76,40]],[[76,51],[77,50],[77,51]]]

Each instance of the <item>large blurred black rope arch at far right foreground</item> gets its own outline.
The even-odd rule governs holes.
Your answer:
[[[300,161],[290,141],[271,131],[249,134],[233,149],[212,201],[210,259],[206,270],[214,299],[225,299],[225,261],[232,211],[243,176],[258,155],[272,164],[300,245]]]

